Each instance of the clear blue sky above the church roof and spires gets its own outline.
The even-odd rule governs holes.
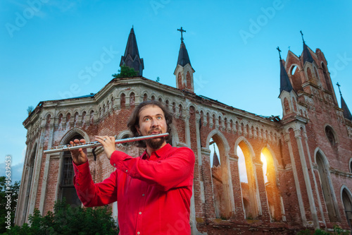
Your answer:
[[[275,48],[299,56],[302,30],[351,110],[351,10],[351,1],[0,1],[0,175],[12,155],[20,179],[27,107],[98,92],[118,72],[132,25],[144,77],[175,87],[182,26],[196,94],[264,116],[282,116]]]

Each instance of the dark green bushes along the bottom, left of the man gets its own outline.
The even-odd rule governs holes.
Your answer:
[[[7,235],[88,235],[88,234],[118,234],[111,217],[111,210],[107,206],[92,208],[72,207],[65,203],[65,199],[56,202],[54,213],[48,212],[44,217],[35,209],[29,217],[30,225],[15,226],[7,231]]]

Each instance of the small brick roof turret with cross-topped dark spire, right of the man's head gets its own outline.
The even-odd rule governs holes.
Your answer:
[[[186,45],[182,37],[182,32],[186,32],[186,30],[183,30],[181,27],[179,31],[181,32],[181,46],[174,72],[176,76],[176,88],[194,92],[193,73],[195,71],[191,66],[191,61],[189,60]]]

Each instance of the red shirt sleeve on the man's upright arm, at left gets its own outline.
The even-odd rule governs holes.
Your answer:
[[[89,170],[89,163],[77,166],[73,162],[75,185],[78,198],[86,207],[107,205],[117,200],[117,170],[101,183],[94,183]]]

